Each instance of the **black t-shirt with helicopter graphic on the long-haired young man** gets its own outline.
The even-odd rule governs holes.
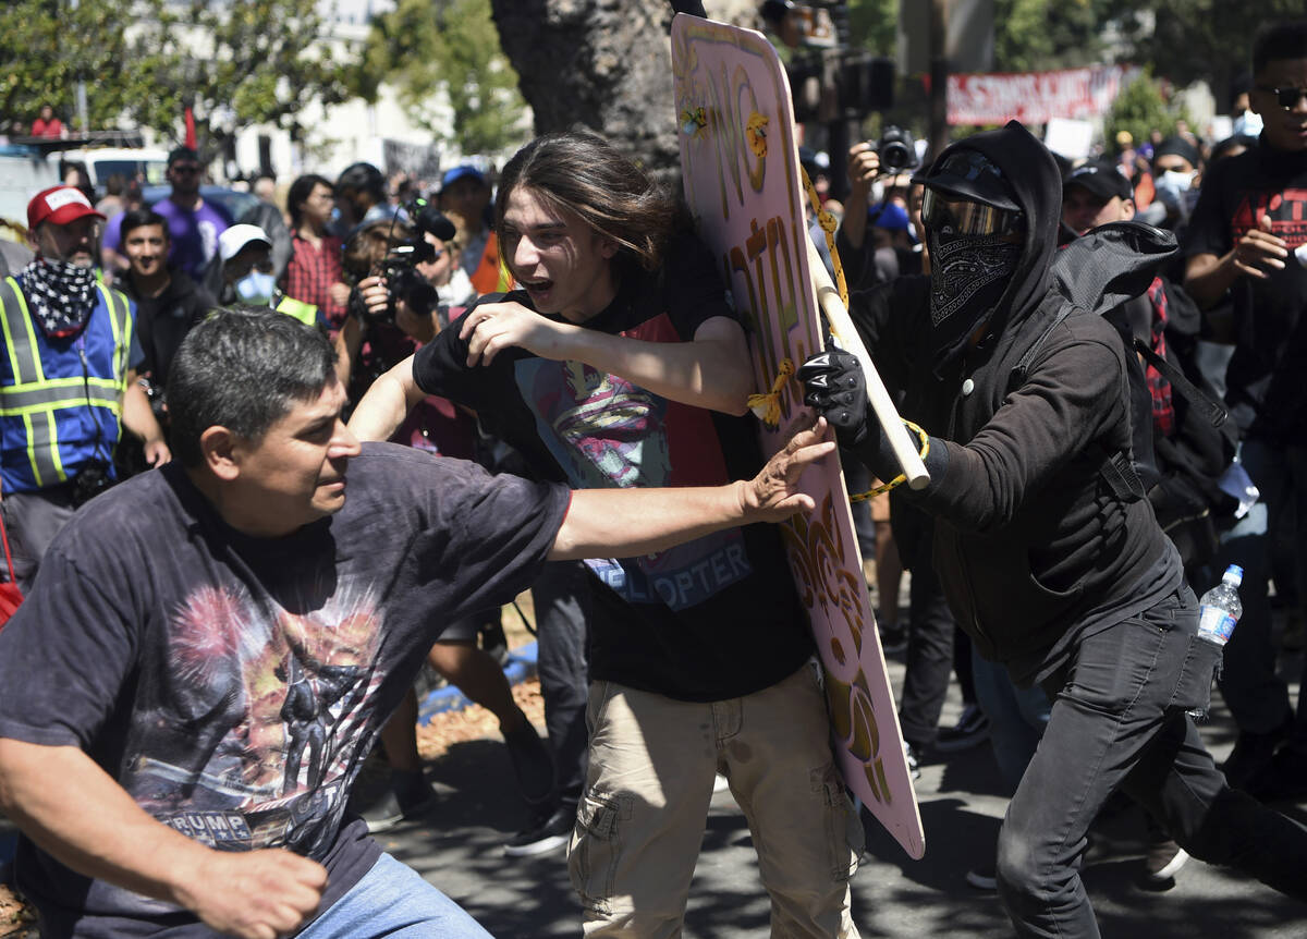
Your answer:
[[[525,293],[485,297],[531,306]],[[627,277],[586,326],[651,343],[684,343],[732,316],[712,255],[674,241],[656,275]],[[558,319],[554,316],[554,319]],[[544,479],[575,489],[718,485],[762,466],[754,418],[669,401],[575,361],[505,349],[468,367],[448,328],[422,347],[413,377],[427,394],[473,408]],[[812,653],[780,528],[731,528],[659,555],[588,561],[591,676],[681,701],[750,694]]]

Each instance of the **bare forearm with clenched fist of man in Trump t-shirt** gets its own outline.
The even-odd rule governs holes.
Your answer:
[[[74,871],[184,906],[225,935],[286,935],[327,885],[325,868],[298,854],[216,851],[173,830],[77,747],[0,738],[0,807]]]

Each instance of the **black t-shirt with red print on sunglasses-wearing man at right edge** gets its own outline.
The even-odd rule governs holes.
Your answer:
[[[1290,254],[1282,271],[1266,268],[1265,279],[1243,275],[1230,288],[1238,337],[1226,400],[1251,437],[1300,442],[1307,439],[1307,153],[1278,152],[1263,140],[1213,166],[1184,252],[1221,256],[1263,216]]]

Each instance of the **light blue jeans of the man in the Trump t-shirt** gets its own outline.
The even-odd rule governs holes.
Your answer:
[[[417,871],[389,854],[301,932],[298,939],[367,939],[438,935],[490,939],[476,919]]]

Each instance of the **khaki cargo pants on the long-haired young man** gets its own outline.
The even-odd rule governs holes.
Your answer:
[[[587,936],[681,935],[721,772],[753,833],[771,935],[857,938],[848,879],[863,829],[833,762],[812,666],[708,704],[596,681],[587,721],[589,772],[567,851]]]

